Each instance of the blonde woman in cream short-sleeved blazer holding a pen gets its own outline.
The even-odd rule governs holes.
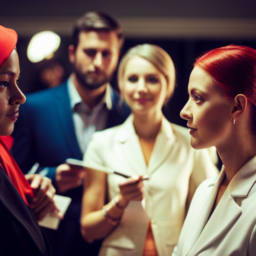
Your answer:
[[[87,172],[81,231],[87,241],[104,238],[99,255],[170,255],[195,187],[216,174],[208,151],[194,150],[189,130],[162,114],[174,83],[173,62],[156,45],[137,45],[121,60],[119,89],[132,113],[96,132],[84,155],[132,176]]]

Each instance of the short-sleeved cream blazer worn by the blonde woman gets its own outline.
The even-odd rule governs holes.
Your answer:
[[[201,181],[217,173],[208,151],[190,146],[189,130],[166,118],[162,118],[148,165],[132,115],[121,125],[95,132],[84,160],[127,175],[150,176],[143,181],[144,209],[141,201],[129,202],[120,223],[102,243],[99,255],[104,256],[141,255],[149,221],[158,255],[170,255],[184,221],[186,199],[191,197],[189,191],[193,193]],[[118,194],[118,184],[123,179],[108,175],[109,200]]]

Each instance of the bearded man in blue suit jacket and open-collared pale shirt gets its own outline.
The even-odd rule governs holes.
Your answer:
[[[94,131],[120,124],[129,114],[109,84],[123,33],[113,17],[90,11],[76,21],[72,40],[68,54],[73,72],[55,88],[26,95],[12,133],[12,155],[24,173],[37,166],[37,173],[52,179],[56,193],[72,198],[58,229],[44,228],[53,256],[93,256],[99,242],[88,244],[80,234],[86,172],[65,159],[82,159]]]

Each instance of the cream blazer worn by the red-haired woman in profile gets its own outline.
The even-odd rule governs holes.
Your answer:
[[[224,174],[222,167],[197,188],[173,256],[256,255],[256,156],[236,173],[208,219]]]

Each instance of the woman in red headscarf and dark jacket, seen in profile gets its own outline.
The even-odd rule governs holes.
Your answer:
[[[12,132],[19,105],[25,101],[18,88],[16,42],[16,32],[0,25],[1,136]],[[51,255],[37,219],[54,211],[62,216],[52,200],[54,193],[47,178],[39,175],[25,178],[0,139],[0,255]]]

